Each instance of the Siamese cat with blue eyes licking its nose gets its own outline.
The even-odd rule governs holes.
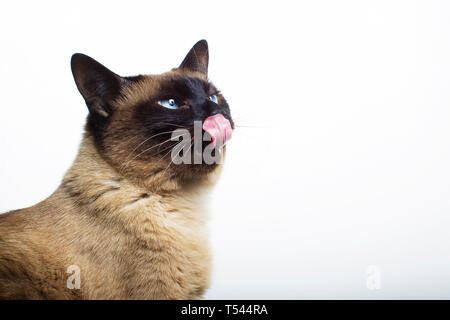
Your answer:
[[[170,153],[174,130],[192,132],[195,121],[213,141],[231,137],[230,108],[208,80],[208,60],[205,40],[159,75],[121,77],[72,56],[89,110],[79,153],[51,196],[0,215],[1,299],[203,297],[211,264],[205,197],[222,164],[173,165]],[[226,146],[217,150],[223,158]]]

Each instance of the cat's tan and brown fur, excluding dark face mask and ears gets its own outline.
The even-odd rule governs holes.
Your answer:
[[[202,297],[211,259],[204,197],[221,165],[202,173],[130,158],[138,143],[133,105],[151,97],[159,79],[180,74],[206,80],[175,69],[122,88],[102,146],[87,129],[49,198],[0,215],[0,298]],[[80,289],[67,287],[71,265],[80,267]]]

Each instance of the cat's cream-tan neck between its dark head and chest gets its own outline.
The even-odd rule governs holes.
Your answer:
[[[91,136],[85,135],[79,153],[63,178],[57,194],[69,198],[80,210],[88,212],[141,211],[181,212],[195,215],[202,207],[209,187],[185,188],[170,179],[153,179],[147,184],[121,175],[98,152]],[[203,219],[203,216],[200,217]]]

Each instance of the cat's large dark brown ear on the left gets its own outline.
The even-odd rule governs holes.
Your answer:
[[[72,56],[71,66],[75,83],[89,112],[108,117],[112,112],[111,102],[119,95],[126,80],[81,53]]]

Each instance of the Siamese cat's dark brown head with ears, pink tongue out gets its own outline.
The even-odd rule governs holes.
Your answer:
[[[71,64],[89,109],[86,135],[118,172],[144,184],[183,182],[204,179],[220,166],[234,124],[225,98],[208,80],[205,40],[179,67],[158,75],[122,77],[83,54],[74,54]],[[202,141],[208,138],[212,144]],[[214,161],[199,163],[207,148]]]

